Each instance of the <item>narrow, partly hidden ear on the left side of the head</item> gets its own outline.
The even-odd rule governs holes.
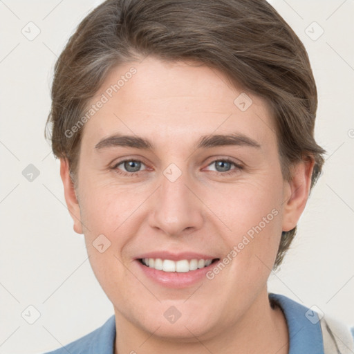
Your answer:
[[[77,234],[83,234],[80,215],[80,206],[77,201],[73,180],[69,174],[69,165],[66,158],[60,158],[60,176],[64,185],[64,195],[68,211],[74,221],[74,231]]]

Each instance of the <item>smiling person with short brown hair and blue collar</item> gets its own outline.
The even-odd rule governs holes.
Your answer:
[[[55,66],[53,153],[111,300],[51,353],[351,353],[267,280],[324,149],[295,32],[262,0],[105,1]]]

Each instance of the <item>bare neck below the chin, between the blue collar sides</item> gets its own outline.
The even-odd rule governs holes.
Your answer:
[[[161,337],[158,328],[151,332],[129,322],[115,308],[114,354],[288,354],[289,335],[281,308],[270,306],[267,288],[259,293],[250,308],[230,325],[218,324],[213,333],[196,337]],[[189,331],[190,332],[190,331]]]

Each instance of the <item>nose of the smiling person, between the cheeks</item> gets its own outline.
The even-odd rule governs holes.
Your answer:
[[[174,171],[176,173],[176,171]],[[160,187],[153,194],[149,225],[169,236],[179,236],[185,230],[198,230],[203,225],[204,205],[192,179],[183,172],[176,180],[161,176]]]

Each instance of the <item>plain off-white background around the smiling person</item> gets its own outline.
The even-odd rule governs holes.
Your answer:
[[[98,3],[0,1],[0,354],[53,350],[113,315],[84,236],[73,232],[59,162],[44,140],[55,59]],[[316,138],[328,155],[269,290],[354,326],[354,1],[272,4],[308,50],[319,91]],[[39,171],[32,182],[22,174],[30,164]],[[28,306],[40,314],[34,324],[21,317],[30,310],[35,319]]]

